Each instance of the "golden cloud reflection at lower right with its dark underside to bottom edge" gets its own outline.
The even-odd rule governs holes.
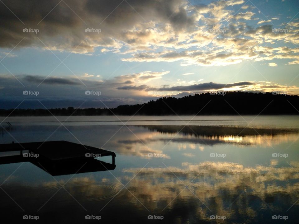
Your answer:
[[[198,199],[196,216],[206,221],[211,214],[225,215],[230,220],[228,223],[240,217],[254,219],[259,216],[257,208],[269,214],[286,214],[291,208],[288,214],[294,220],[297,215],[292,212],[299,205],[299,163],[292,161],[287,167],[277,165],[275,160],[268,167],[254,168],[228,162],[202,162],[183,163],[183,168],[168,166],[142,171],[131,168],[124,172],[139,172],[130,190],[142,195],[141,202],[151,210],[173,211],[177,203],[187,203],[195,197]],[[270,215],[268,218],[271,222]]]

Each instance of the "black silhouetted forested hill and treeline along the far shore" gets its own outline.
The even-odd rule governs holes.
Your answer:
[[[229,115],[229,114],[298,114],[299,96],[272,93],[225,92],[201,93],[182,98],[163,97],[145,104],[121,105],[116,108],[73,107],[49,109],[55,116],[78,115]],[[1,110],[1,116],[9,115],[13,109]],[[45,109],[16,109],[10,116],[51,116]]]

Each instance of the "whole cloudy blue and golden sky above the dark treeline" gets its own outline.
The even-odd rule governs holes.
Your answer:
[[[299,94],[297,0],[1,0],[0,109]]]

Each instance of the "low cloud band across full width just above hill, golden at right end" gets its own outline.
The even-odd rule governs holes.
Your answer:
[[[139,72],[142,73],[142,72]],[[139,74],[136,73],[136,74]],[[153,73],[153,72],[145,72]],[[159,72],[161,73],[161,72]],[[188,96],[195,93],[209,91],[249,91],[249,92],[271,92],[284,91],[288,94],[299,94],[298,86],[280,85],[275,82],[266,81],[243,81],[236,83],[195,83],[158,85],[160,82],[133,82],[127,78],[134,74],[127,74],[112,78],[105,82],[86,78],[81,81],[78,78],[58,78],[46,76],[16,75],[16,78],[24,85],[16,85],[15,77],[11,75],[0,75],[0,105],[1,108],[15,108],[24,99],[21,108],[40,108],[40,100],[47,108],[78,107],[83,102],[83,108],[88,107],[116,107],[125,104],[142,104],[148,100],[160,96]],[[123,79],[123,77],[126,77]],[[44,82],[40,84],[40,82]],[[136,79],[138,80],[138,79]],[[134,79],[135,81],[135,79]],[[199,82],[199,81],[198,81]],[[161,83],[162,84],[162,83]],[[24,90],[39,91],[38,96],[24,96]],[[86,90],[101,91],[100,96],[85,95]],[[105,104],[103,104],[103,103]]]

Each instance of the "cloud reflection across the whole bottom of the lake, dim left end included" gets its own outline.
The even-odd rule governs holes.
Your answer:
[[[111,177],[98,182],[93,177],[82,177],[74,178],[68,184],[62,179],[59,183],[51,180],[39,186],[21,185],[18,188],[14,184],[6,184],[3,188],[9,189],[9,193],[22,205],[24,201],[34,198],[34,208],[37,209],[65,184],[65,190],[72,197],[61,189],[44,211],[41,209],[42,215],[47,209],[53,209],[51,206],[55,203],[58,207],[68,205],[77,209],[82,205],[90,211],[95,205],[98,210],[102,209],[114,198],[102,210],[102,216],[110,209],[121,209],[119,216],[109,217],[115,221],[126,215],[122,211],[143,210],[141,213],[146,214],[146,208],[149,210],[147,213],[164,215],[165,220],[173,223],[182,222],[186,214],[189,221],[192,217],[194,222],[191,223],[210,222],[212,214],[225,216],[225,223],[240,220],[260,223],[261,211],[263,223],[271,223],[272,215],[277,213],[288,215],[288,221],[294,222],[299,206],[299,201],[296,201],[299,197],[298,172],[297,161],[290,162],[286,167],[278,167],[275,160],[271,161],[270,166],[256,167],[229,162],[186,162],[182,167],[124,168],[123,174],[116,176],[117,180]],[[132,175],[135,177],[131,180]],[[129,180],[127,189],[124,189],[120,182]],[[26,194],[17,194],[17,189]],[[7,197],[3,198],[2,203],[9,203]],[[148,221],[145,217],[137,217],[137,220]]]

